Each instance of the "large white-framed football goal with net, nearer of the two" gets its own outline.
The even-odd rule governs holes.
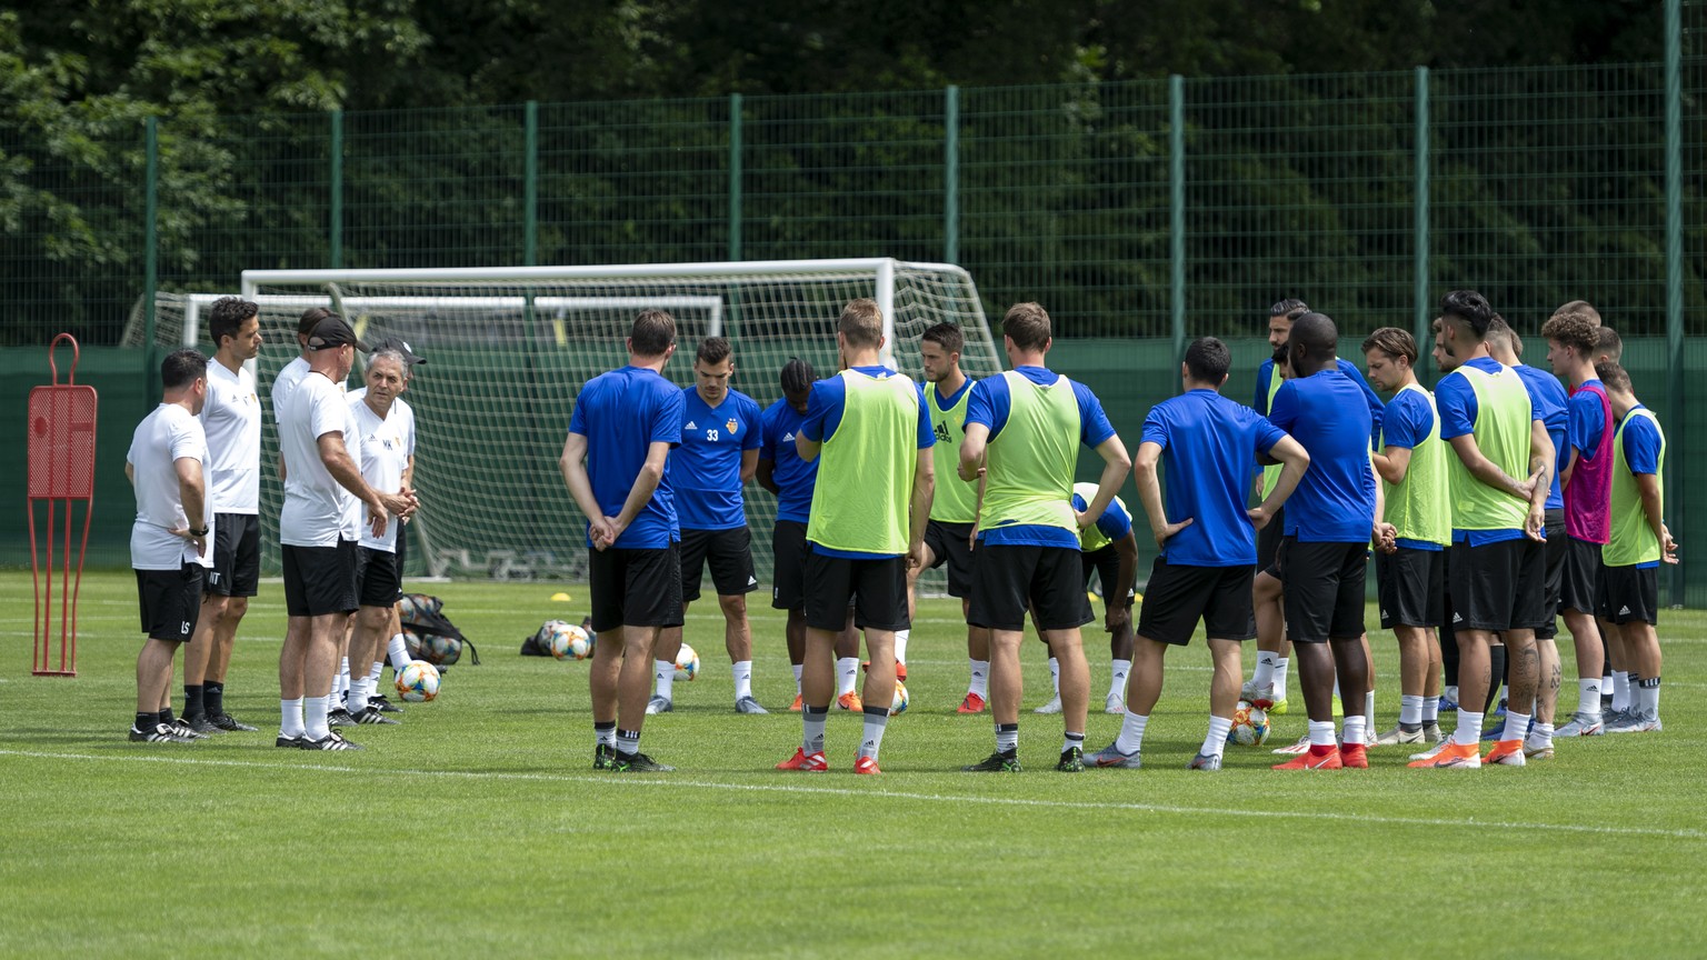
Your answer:
[[[415,408],[415,487],[422,512],[411,572],[452,577],[584,579],[584,518],[563,487],[558,454],[580,386],[626,362],[623,340],[642,309],[667,309],[678,354],[664,376],[693,383],[703,337],[734,345],[731,386],[768,407],[790,357],[818,376],[836,369],[842,306],[883,306],[888,357],[922,379],[918,338],[939,321],[966,333],[961,366],[980,378],[1000,371],[999,352],[971,277],[959,266],[896,260],[806,260],[633,266],[524,266],[459,270],[248,270],[242,296],[261,306],[265,343],[256,383],[265,398],[295,357],[295,323],[324,306],[364,338],[401,337],[428,362],[405,400]],[[201,343],[215,294],[160,294],[155,338]],[[140,325],[138,325],[140,326]],[[140,338],[138,338],[140,340]],[[352,386],[360,386],[360,355]],[[277,432],[263,429],[263,564],[278,569]],[[746,487],[753,560],[770,579],[775,497]],[[923,581],[941,588],[941,571]]]

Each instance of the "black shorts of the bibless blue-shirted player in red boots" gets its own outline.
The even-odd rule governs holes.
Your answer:
[[[1296,536],[1287,536],[1280,545],[1279,564],[1289,641],[1321,644],[1355,641],[1364,634],[1367,543],[1301,543]]]

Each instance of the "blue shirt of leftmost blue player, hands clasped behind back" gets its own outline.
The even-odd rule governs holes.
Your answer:
[[[681,442],[681,388],[657,371],[621,367],[589,379],[575,396],[568,432],[587,437],[587,478],[604,516],[618,516],[655,442]],[[591,524],[587,526],[591,530]],[[615,547],[662,550],[681,540],[669,470],[647,506],[616,538]],[[592,540],[587,540],[592,545]]]

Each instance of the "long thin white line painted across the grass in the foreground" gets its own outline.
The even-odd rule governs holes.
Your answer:
[[[889,799],[917,799],[922,803],[983,803],[983,805],[1000,805],[1000,806],[1041,806],[1050,810],[1130,810],[1135,813],[1248,817],[1260,820],[1311,820],[1311,822],[1345,820],[1355,823],[1391,823],[1396,827],[1475,827],[1478,830],[1480,828],[1541,830],[1541,832],[1560,832],[1560,834],[1605,834],[1605,835],[1622,835],[1622,837],[1675,837],[1683,840],[1707,839],[1707,832],[1688,830],[1688,828],[1659,830],[1646,827],[1596,827],[1586,823],[1531,823],[1523,820],[1475,820],[1475,818],[1446,820],[1437,817],[1378,817],[1367,813],[1333,813],[1333,811],[1234,810],[1234,808],[1215,808],[1215,806],[1173,806],[1161,803],[1026,799],[1012,796],[976,796],[976,794],[968,796],[968,794],[910,793],[910,791],[886,791],[886,789],[813,787],[799,784],[720,784],[710,781],[688,781],[674,777],[655,777],[655,779],[618,777],[611,774],[565,776],[565,774],[502,774],[502,772],[485,772],[485,770],[384,770],[384,769],[367,769],[367,767],[331,767],[318,764],[297,765],[297,764],[261,764],[256,760],[201,760],[193,757],[97,757],[94,753],[46,753],[34,750],[0,750],[0,757],[32,757],[39,760],[181,764],[189,767],[258,767],[266,770],[319,770],[331,774],[377,774],[377,776],[427,777],[427,779],[541,781],[541,782],[601,784],[616,789],[676,787],[676,789],[708,789],[708,791],[799,793],[799,794],[818,794],[818,796],[859,796],[859,798],[881,796]]]

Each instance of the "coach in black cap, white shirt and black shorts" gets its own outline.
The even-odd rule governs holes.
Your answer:
[[[369,487],[345,446],[347,437],[355,444],[360,432],[341,384],[355,350],[365,352],[367,343],[343,318],[328,314],[309,333],[306,348],[309,372],[275,407],[285,470],[278,540],[285,612],[294,627],[278,658],[278,746],[357,750],[326,724],[345,617],[357,608],[355,541],[345,536],[347,516],[360,516],[360,504],[367,504],[369,528],[377,536],[393,514],[413,512],[415,502]]]

